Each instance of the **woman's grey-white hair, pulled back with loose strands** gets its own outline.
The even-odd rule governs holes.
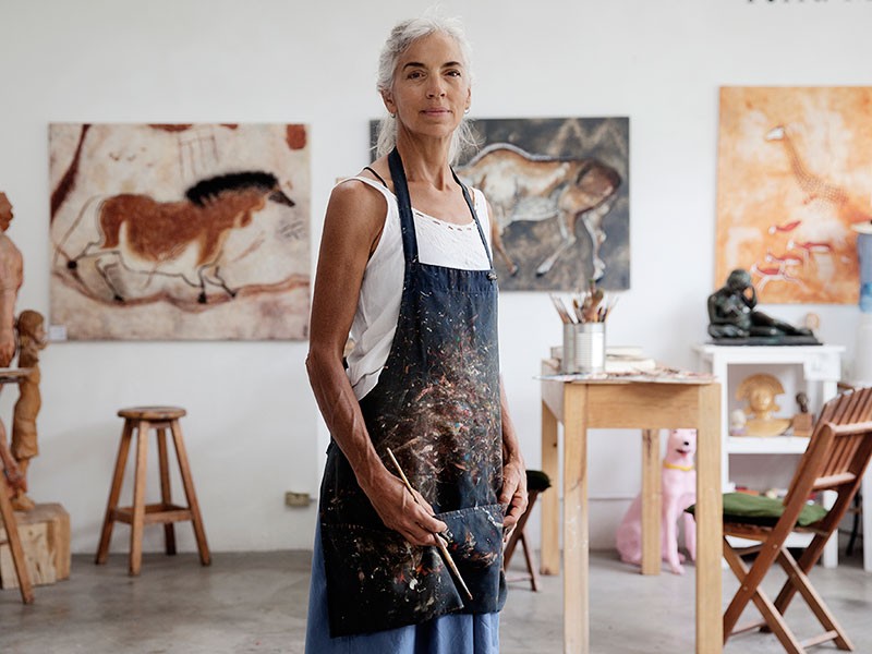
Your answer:
[[[378,57],[378,77],[376,80],[378,93],[386,93],[392,88],[393,73],[397,72],[397,63],[402,53],[417,39],[437,33],[455,39],[463,59],[461,63],[467,68],[469,80],[472,81],[472,48],[463,34],[462,23],[459,19],[445,19],[427,13],[420,19],[402,21],[391,29],[390,36],[382,47],[382,55]],[[387,155],[396,145],[397,121],[392,117],[386,116],[378,125],[376,157]],[[448,160],[453,164],[463,150],[476,146],[477,143],[472,132],[472,126],[464,116],[451,136]]]

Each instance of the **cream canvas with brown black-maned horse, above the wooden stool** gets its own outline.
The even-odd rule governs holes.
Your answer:
[[[305,125],[57,123],[49,149],[66,338],[307,338]]]

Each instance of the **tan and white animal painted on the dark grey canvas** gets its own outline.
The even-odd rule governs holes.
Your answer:
[[[576,223],[581,218],[591,237],[592,277],[603,277],[605,263],[600,258],[600,247],[606,240],[603,217],[611,209],[621,183],[617,170],[596,159],[531,155],[508,143],[497,143],[459,168],[458,174],[481,189],[491,202],[499,227],[494,247],[511,275],[518,271],[518,265],[499,238],[507,226],[557,218],[560,242],[536,268],[536,276],[541,277],[576,244]]]

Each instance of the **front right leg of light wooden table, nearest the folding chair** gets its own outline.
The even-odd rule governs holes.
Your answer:
[[[720,388],[699,387],[697,419],[697,654],[724,646],[722,619],[723,496],[720,487]]]

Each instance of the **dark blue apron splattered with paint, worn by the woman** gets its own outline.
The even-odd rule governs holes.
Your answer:
[[[496,274],[493,263],[489,270],[461,270],[419,262],[396,149],[388,164],[405,276],[391,350],[361,410],[388,470],[393,472],[390,448],[412,486],[448,525],[449,550],[473,600],[461,596],[436,547],[413,546],[384,525],[331,441],[320,521],[334,637],[421,623],[450,611],[492,613],[506,600]],[[472,198],[462,189],[487,251]]]

